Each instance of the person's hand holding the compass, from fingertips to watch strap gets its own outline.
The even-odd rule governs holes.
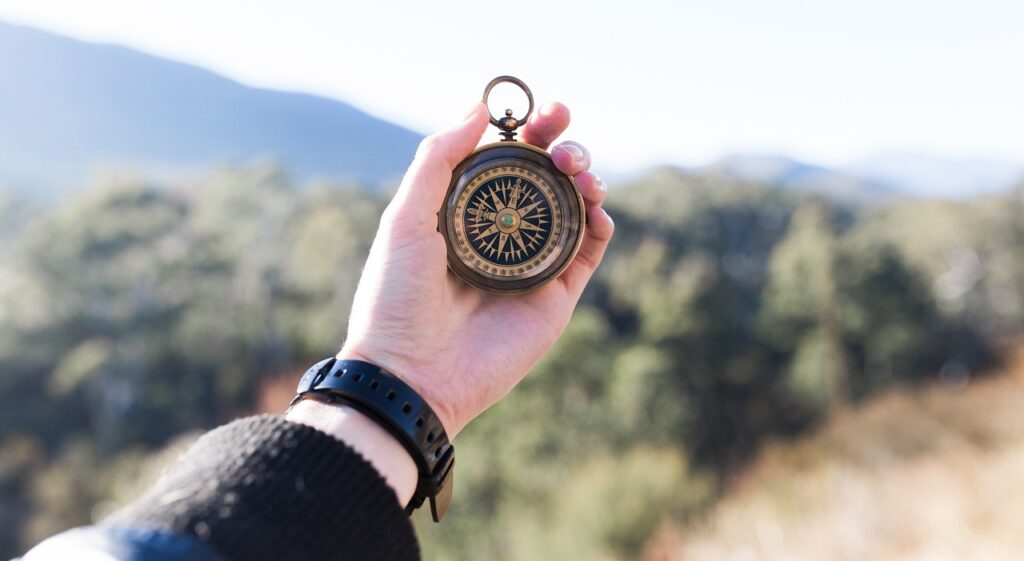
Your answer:
[[[373,362],[401,377],[437,413],[450,437],[501,399],[551,348],[611,239],[601,209],[606,187],[588,171],[575,142],[555,146],[555,165],[575,178],[587,205],[587,229],[571,265],[526,294],[484,293],[447,270],[437,231],[452,171],[487,126],[478,103],[459,125],[427,137],[381,217],[359,279],[339,358]],[[541,107],[522,140],[547,148],[569,123],[560,103]]]

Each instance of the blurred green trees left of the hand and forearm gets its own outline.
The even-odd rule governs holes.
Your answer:
[[[250,409],[254,384],[336,346],[380,208],[253,168],[179,190],[110,185],[12,226],[0,446],[31,434],[45,469],[0,474],[0,508],[22,513],[0,524],[0,557],[89,521],[125,450]]]

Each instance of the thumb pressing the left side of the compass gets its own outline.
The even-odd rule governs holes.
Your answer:
[[[402,213],[402,209],[416,208],[429,215],[436,213],[452,182],[452,170],[473,152],[488,121],[486,106],[477,101],[461,123],[424,138],[391,202],[397,207],[392,210]]]

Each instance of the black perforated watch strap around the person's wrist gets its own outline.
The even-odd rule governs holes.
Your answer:
[[[420,472],[406,512],[412,513],[429,499],[434,522],[440,522],[452,505],[455,446],[416,390],[376,364],[332,357],[302,375],[292,403],[305,397],[350,405],[393,434]]]

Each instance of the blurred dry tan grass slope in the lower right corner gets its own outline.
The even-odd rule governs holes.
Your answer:
[[[962,387],[890,393],[770,445],[659,561],[1024,558],[1024,345]]]

